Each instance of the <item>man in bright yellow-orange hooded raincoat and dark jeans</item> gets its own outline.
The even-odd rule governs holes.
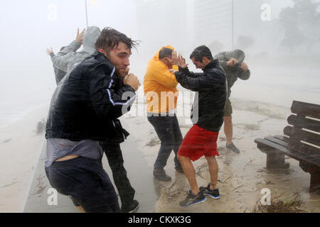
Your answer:
[[[144,96],[146,97],[146,111],[148,121],[154,126],[156,134],[161,140],[161,147],[154,163],[154,177],[169,181],[164,167],[174,150],[178,153],[183,140],[178,118],[176,117],[176,103],[178,100],[178,82],[169,70],[176,70],[178,57],[171,46],[161,48],[148,63],[144,77]],[[183,172],[177,157],[174,157],[176,171]]]

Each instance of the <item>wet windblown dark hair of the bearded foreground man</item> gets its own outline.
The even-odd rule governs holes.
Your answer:
[[[113,28],[103,28],[99,37],[97,38],[97,42],[95,43],[95,48],[103,49],[106,51],[112,50],[115,46],[119,45],[119,42],[125,43],[128,48],[131,50],[132,48],[137,49],[137,45],[139,45],[140,41],[132,40],[128,38],[127,35],[120,33],[119,31]]]

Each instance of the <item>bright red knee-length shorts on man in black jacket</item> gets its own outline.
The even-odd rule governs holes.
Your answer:
[[[190,157],[193,162],[203,155],[205,157],[219,156],[218,135],[219,132],[211,132],[194,125],[183,139],[178,155]]]

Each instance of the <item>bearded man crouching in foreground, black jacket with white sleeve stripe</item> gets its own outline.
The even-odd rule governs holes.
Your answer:
[[[105,28],[96,43],[98,52],[65,75],[53,94],[46,124],[46,175],[85,212],[119,212],[98,141],[124,140],[117,118],[129,111],[140,86],[127,71],[135,45]]]

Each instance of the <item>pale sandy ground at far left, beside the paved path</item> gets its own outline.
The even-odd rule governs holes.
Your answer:
[[[36,129],[47,112],[47,107],[36,109],[0,129],[0,212],[23,211],[44,142]]]

